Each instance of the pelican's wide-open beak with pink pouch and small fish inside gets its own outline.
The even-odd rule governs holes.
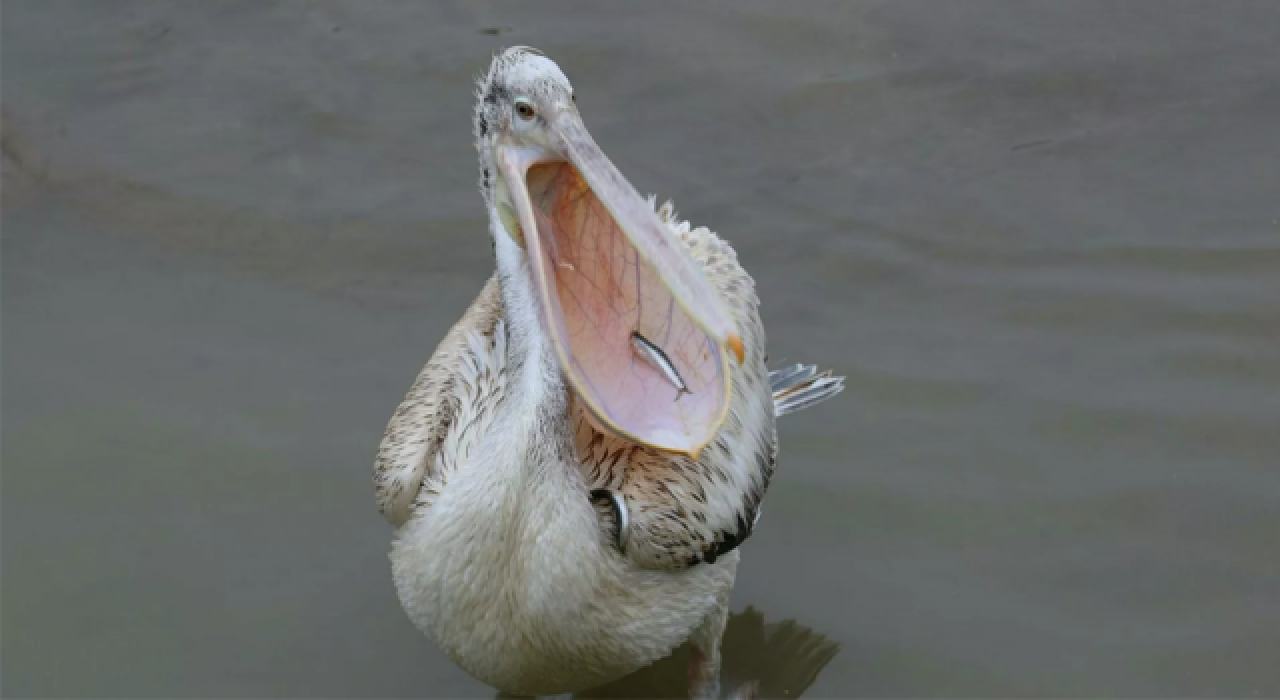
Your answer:
[[[545,119],[549,148],[498,147],[495,160],[561,370],[596,429],[696,456],[728,412],[728,357],[744,358],[733,317],[577,110]]]

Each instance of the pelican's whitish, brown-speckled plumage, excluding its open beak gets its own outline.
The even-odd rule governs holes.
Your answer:
[[[751,278],[726,242],[677,221],[668,203],[658,210],[664,235],[723,299],[745,361],[731,365],[727,418],[696,458],[598,430],[566,383],[536,302],[526,237],[544,232],[511,230],[499,211],[516,186],[499,175],[499,151],[554,148],[552,136],[512,125],[512,102],[525,95],[538,105],[572,96],[552,68],[517,47],[481,84],[476,137],[498,270],[379,448],[374,484],[397,526],[396,589],[419,628],[507,692],[582,690],[691,640],[694,692],[705,695],[716,690],[736,546],[774,468],[774,417],[838,393],[841,380],[803,366],[771,376]],[[590,495],[598,489],[627,507],[625,550],[617,513]]]

